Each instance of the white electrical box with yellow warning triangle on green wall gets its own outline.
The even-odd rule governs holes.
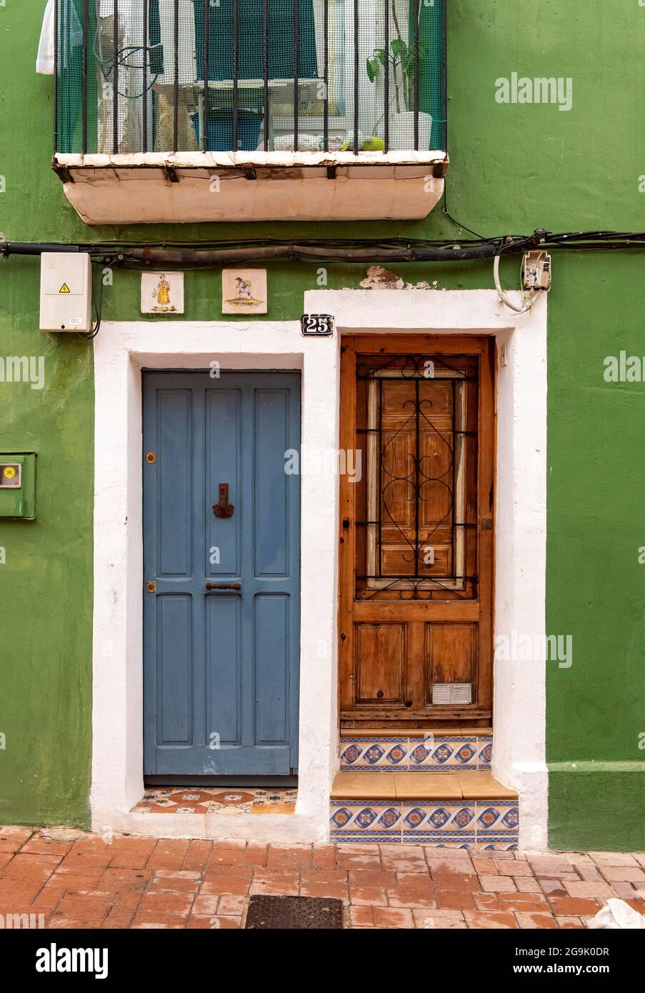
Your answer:
[[[92,267],[87,252],[41,255],[41,331],[91,331]]]

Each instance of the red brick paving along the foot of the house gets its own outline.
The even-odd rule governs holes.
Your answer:
[[[334,897],[351,927],[580,928],[645,914],[645,854],[264,845],[0,827],[0,914],[47,927],[237,928],[249,894]]]

